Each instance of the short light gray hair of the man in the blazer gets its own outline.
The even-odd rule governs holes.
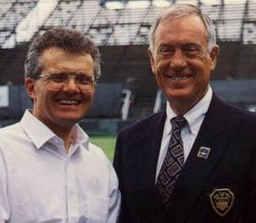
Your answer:
[[[198,16],[202,19],[208,35],[208,52],[210,52],[216,44],[216,32],[213,21],[207,14],[203,13],[199,7],[191,4],[173,4],[158,14],[158,17],[154,20],[148,33],[150,50],[154,52],[155,32],[161,22],[172,21],[179,17],[187,17],[191,15]]]

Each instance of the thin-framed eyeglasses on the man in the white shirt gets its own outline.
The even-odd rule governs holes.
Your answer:
[[[44,81],[47,82],[48,90],[50,91],[60,91],[70,78],[73,78],[76,82],[78,88],[82,92],[93,92],[96,81],[93,77],[88,77],[83,74],[73,75],[68,73],[56,73],[56,74],[41,74],[38,77],[43,77]]]

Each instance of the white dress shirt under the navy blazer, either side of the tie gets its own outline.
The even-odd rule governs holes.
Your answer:
[[[188,121],[188,125],[184,126],[181,130],[181,137],[183,140],[183,150],[184,150],[184,161],[187,160],[188,154],[192,149],[193,142],[198,136],[198,131],[202,125],[204,116],[208,111],[208,107],[213,97],[213,91],[211,87],[208,87],[208,92],[203,96],[203,98],[188,112],[186,112],[183,117]],[[166,106],[166,120],[164,123],[163,136],[161,141],[160,152],[158,156],[158,166],[156,172],[155,181],[158,179],[158,174],[163,164],[164,158],[168,151],[168,144],[171,137],[171,119],[177,116],[175,112],[173,112],[172,107],[167,102]]]

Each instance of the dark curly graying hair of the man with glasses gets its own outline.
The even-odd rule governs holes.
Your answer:
[[[43,70],[40,65],[40,56],[49,47],[59,47],[71,54],[89,54],[93,57],[94,77],[97,80],[101,75],[100,53],[94,42],[83,32],[57,27],[44,32],[42,36],[35,37],[29,46],[25,62],[25,78],[38,78]]]

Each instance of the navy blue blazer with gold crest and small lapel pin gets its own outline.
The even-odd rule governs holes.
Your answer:
[[[159,112],[118,135],[113,165],[122,193],[119,222],[255,223],[255,114],[213,94],[167,211],[155,189],[165,118]]]

